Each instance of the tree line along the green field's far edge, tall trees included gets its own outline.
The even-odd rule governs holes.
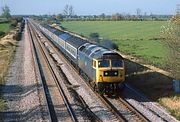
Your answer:
[[[155,20],[155,21],[162,21],[162,20],[168,20],[172,17],[172,15],[154,15],[149,14],[145,12],[142,14],[142,11],[140,8],[136,9],[136,15],[130,15],[130,14],[121,14],[121,13],[115,13],[112,15],[106,15],[105,13],[102,13],[100,15],[85,15],[85,16],[78,16],[74,12],[74,7],[72,5],[66,5],[63,11],[63,14],[58,14],[56,18],[59,20],[65,20],[65,21],[122,21],[122,20],[130,20],[130,21],[146,21],[146,20]]]

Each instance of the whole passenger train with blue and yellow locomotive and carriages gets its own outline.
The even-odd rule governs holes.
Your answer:
[[[101,94],[114,93],[123,88],[125,66],[119,53],[47,24],[36,23],[36,26],[95,91]]]

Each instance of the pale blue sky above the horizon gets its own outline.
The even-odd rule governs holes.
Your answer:
[[[73,6],[76,15],[136,14],[137,8],[141,14],[172,15],[180,0],[0,0],[0,8],[5,4],[12,15],[59,14],[67,4]]]

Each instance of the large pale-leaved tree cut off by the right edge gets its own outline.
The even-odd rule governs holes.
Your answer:
[[[161,33],[170,49],[168,64],[173,77],[180,80],[180,14],[173,16],[168,25],[162,27]]]

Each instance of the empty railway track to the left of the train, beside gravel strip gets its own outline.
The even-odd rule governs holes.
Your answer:
[[[57,73],[55,73],[55,70],[53,68],[52,62],[50,61],[50,57],[48,56],[49,54],[45,50],[44,46],[41,44],[38,35],[36,33],[36,30],[33,28],[31,24],[28,24],[28,30],[30,33],[30,37],[32,40],[32,47],[35,52],[36,60],[38,63],[38,68],[41,76],[41,81],[44,89],[44,96],[46,97],[46,104],[48,108],[48,115],[49,115],[49,120],[51,122],[57,122],[58,121],[58,112],[55,110],[55,105],[54,101],[52,99],[52,96],[50,94],[50,88],[49,88],[49,83],[48,81],[53,80],[53,82],[57,85],[58,91],[60,96],[62,97],[62,100],[64,101],[64,105],[67,108],[67,112],[69,114],[70,119],[73,122],[77,121],[76,115],[62,89],[62,86],[59,83],[59,79],[57,76]]]

